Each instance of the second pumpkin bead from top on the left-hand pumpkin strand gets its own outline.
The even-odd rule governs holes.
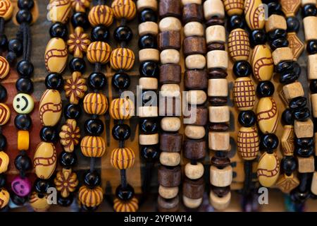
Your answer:
[[[111,47],[106,42],[92,42],[87,49],[87,59],[90,63],[106,64],[109,61]]]

